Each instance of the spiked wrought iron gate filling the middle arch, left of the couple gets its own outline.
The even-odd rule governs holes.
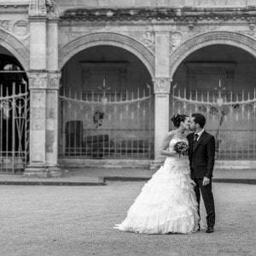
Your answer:
[[[150,87],[60,96],[62,157],[151,159],[154,104]]]

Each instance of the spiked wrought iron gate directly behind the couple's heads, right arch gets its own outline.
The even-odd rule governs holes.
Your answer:
[[[217,159],[256,160],[256,90],[245,94],[172,89],[170,113],[203,113],[216,140]]]

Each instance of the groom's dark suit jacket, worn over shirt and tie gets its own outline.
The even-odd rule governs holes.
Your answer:
[[[188,135],[189,141],[189,166],[192,178],[212,177],[215,158],[215,139],[207,131],[201,134],[199,140],[194,142],[194,134]],[[192,167],[192,163],[194,168]]]

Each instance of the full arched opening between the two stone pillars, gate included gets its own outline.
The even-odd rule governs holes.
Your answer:
[[[126,49],[90,47],[61,70],[61,158],[153,157],[152,77]]]

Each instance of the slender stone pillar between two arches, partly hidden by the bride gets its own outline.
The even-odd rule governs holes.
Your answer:
[[[160,156],[160,145],[169,131],[169,94],[172,79],[169,77],[170,31],[155,27],[155,77],[154,83],[154,162],[151,168],[159,166],[165,157]]]

